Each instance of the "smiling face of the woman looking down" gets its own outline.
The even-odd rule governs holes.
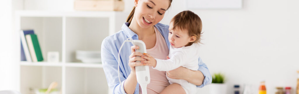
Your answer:
[[[163,19],[169,3],[169,0],[135,0],[133,17],[142,28],[152,27]]]

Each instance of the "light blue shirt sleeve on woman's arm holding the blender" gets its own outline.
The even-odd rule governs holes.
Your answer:
[[[116,56],[118,56],[118,54]],[[104,39],[101,46],[101,59],[102,59],[103,70],[106,75],[108,86],[110,89],[113,90],[113,94],[123,94],[124,92],[123,87],[126,78],[123,75],[123,71],[120,69],[119,76],[120,76],[121,84],[119,83],[118,61],[116,58],[118,57],[115,57],[115,55],[112,54],[111,44],[109,44],[109,42],[106,39]],[[120,62],[120,66],[123,66],[121,62]],[[136,91],[137,90],[135,89],[135,93]]]

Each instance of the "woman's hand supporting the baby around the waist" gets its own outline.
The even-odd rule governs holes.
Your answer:
[[[170,71],[167,71],[167,76],[171,79],[184,79],[186,80],[188,78],[189,75],[187,75],[187,73],[189,73],[189,71],[192,71],[192,70],[189,70],[185,67],[179,67],[179,68],[176,68],[174,70],[170,70]]]

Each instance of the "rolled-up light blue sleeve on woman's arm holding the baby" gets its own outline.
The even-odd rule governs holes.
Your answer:
[[[198,58],[198,70],[202,72],[202,74],[205,76],[204,81],[202,82],[202,85],[196,86],[196,87],[204,87],[205,85],[211,84],[212,83],[212,76],[210,74],[210,70],[208,69],[207,65],[202,62],[202,59],[199,57]]]

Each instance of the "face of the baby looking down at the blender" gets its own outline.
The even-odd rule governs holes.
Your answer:
[[[170,22],[168,35],[170,45],[174,48],[180,48],[187,45],[191,38],[187,32],[187,30],[181,30],[179,28],[173,29],[173,22]]]

